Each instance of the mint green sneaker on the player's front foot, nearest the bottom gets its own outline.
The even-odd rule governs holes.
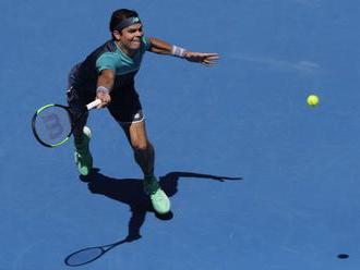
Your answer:
[[[144,191],[151,197],[153,207],[159,214],[165,214],[170,211],[170,200],[165,192],[160,188],[155,176],[145,177]]]

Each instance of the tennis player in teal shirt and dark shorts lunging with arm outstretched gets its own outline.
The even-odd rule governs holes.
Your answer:
[[[217,53],[192,52],[158,38],[145,37],[137,13],[121,9],[110,20],[111,40],[98,47],[69,74],[68,103],[72,113],[81,115],[82,108],[100,99],[97,109],[107,107],[120,124],[133,149],[136,163],[144,173],[144,191],[149,195],[155,211],[170,210],[170,200],[154,175],[154,147],[147,138],[145,120],[134,76],[146,51],[173,56],[190,62],[213,65]],[[74,127],[75,163],[82,175],[89,174],[93,157],[89,151],[91,130],[85,126],[87,113]]]

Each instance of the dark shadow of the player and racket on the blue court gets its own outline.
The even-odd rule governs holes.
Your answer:
[[[217,176],[211,174],[202,174],[202,173],[193,173],[193,172],[170,172],[164,176],[159,177],[159,183],[164,192],[169,196],[172,197],[178,192],[178,182],[179,179],[191,177],[191,179],[207,179],[218,182],[225,181],[238,181],[242,180],[241,177],[227,177],[227,176]],[[93,170],[89,176],[80,176],[83,182],[87,182],[88,189],[93,194],[100,194],[107,196],[111,199],[118,200],[122,204],[129,205],[131,211],[131,218],[129,220],[128,225],[128,235],[122,240],[118,241],[113,244],[95,247],[98,250],[105,249],[107,246],[111,246],[112,249],[115,246],[119,246],[124,243],[130,243],[141,238],[141,226],[145,222],[146,213],[153,212],[155,216],[160,220],[170,220],[173,217],[172,212],[167,214],[157,214],[154,211],[152,202],[144,194],[143,189],[143,180],[140,179],[113,179],[106,176],[99,172],[98,169]],[[96,255],[91,260],[84,259],[81,261],[81,257],[88,257],[87,254],[94,253],[96,250],[94,247],[92,248],[84,248],[79,251],[75,251],[69,255],[65,259],[65,263],[68,266],[82,266],[88,262],[94,261],[101,257],[105,251]],[[91,251],[89,251],[91,250]],[[106,250],[107,251],[107,250]],[[86,254],[86,256],[84,256]],[[95,253],[94,253],[95,254]],[[80,263],[70,263],[70,261],[79,261]]]

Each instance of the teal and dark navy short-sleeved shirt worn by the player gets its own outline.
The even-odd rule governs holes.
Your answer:
[[[133,88],[134,76],[140,70],[145,51],[149,48],[148,38],[142,37],[140,49],[135,51],[133,57],[129,57],[121,51],[113,40],[109,40],[72,69],[69,84],[80,91],[95,96],[99,73],[103,70],[113,70],[116,77],[112,91]]]

